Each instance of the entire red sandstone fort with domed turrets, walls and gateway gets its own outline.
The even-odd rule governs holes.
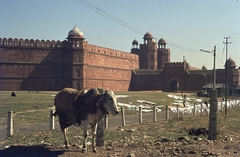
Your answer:
[[[212,70],[194,68],[184,60],[170,62],[170,49],[147,32],[131,53],[88,44],[77,27],[67,40],[0,38],[0,90],[61,90],[103,87],[114,91],[198,91],[211,84]],[[240,86],[240,68],[229,58],[229,93]],[[217,69],[217,83],[225,70]],[[207,87],[206,87],[207,88]],[[221,87],[219,93],[222,92]]]

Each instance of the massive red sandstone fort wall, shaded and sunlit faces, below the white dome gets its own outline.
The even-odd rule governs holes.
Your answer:
[[[103,87],[126,91],[138,55],[68,42],[0,38],[0,90]]]

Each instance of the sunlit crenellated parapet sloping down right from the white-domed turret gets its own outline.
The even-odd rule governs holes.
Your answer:
[[[84,44],[84,48],[88,49],[90,52],[104,54],[104,55],[110,55],[120,58],[128,58],[133,60],[138,60],[138,55],[120,51],[120,50],[114,50],[106,47],[91,45],[91,44]]]

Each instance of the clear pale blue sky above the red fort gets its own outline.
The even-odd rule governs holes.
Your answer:
[[[150,32],[171,62],[213,69],[213,53],[200,49],[216,46],[216,68],[226,57],[240,66],[239,0],[0,0],[0,38],[63,41],[75,25],[92,45],[130,52]]]

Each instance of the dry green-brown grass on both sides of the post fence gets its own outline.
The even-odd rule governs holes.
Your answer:
[[[16,92],[16,97],[11,97],[11,92],[0,92],[0,123],[6,125],[8,111],[14,111],[15,125],[24,125],[28,123],[49,123],[49,110],[53,107],[53,99],[57,92]],[[173,99],[168,98],[164,92],[116,92],[116,95],[128,95],[126,98],[118,98],[118,102],[138,104],[137,100],[146,100],[155,102],[156,105],[168,105]],[[190,95],[189,95],[190,96]],[[219,137],[224,138],[229,135],[240,134],[240,109],[229,110],[228,115],[218,113],[218,131]],[[56,118],[57,119],[57,118]],[[190,128],[204,127],[208,128],[208,116],[182,116],[180,119],[158,120],[157,122],[147,122],[141,125],[136,124],[126,126],[125,131],[119,129],[110,129],[105,132],[105,139],[108,141],[124,141],[131,139],[133,132],[126,130],[134,129],[135,143],[141,143],[142,140],[152,141],[162,137],[176,139],[179,136],[188,136],[187,130]],[[77,127],[69,129],[69,141],[80,144],[82,141],[81,131]],[[207,138],[207,137],[203,137]],[[5,140],[4,145],[37,145],[49,144],[60,147],[63,143],[63,136],[60,129],[37,131],[28,135],[14,135]]]

